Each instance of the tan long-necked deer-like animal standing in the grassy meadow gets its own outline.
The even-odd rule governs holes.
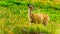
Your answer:
[[[28,4],[28,19],[30,23],[42,23],[43,25],[47,25],[49,21],[49,16],[47,14],[35,14],[32,13],[34,7]]]

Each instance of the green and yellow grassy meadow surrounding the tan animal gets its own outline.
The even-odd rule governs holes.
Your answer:
[[[50,21],[29,24],[28,4],[33,13],[48,14]],[[0,0],[0,34],[60,34],[60,2],[53,0]]]

